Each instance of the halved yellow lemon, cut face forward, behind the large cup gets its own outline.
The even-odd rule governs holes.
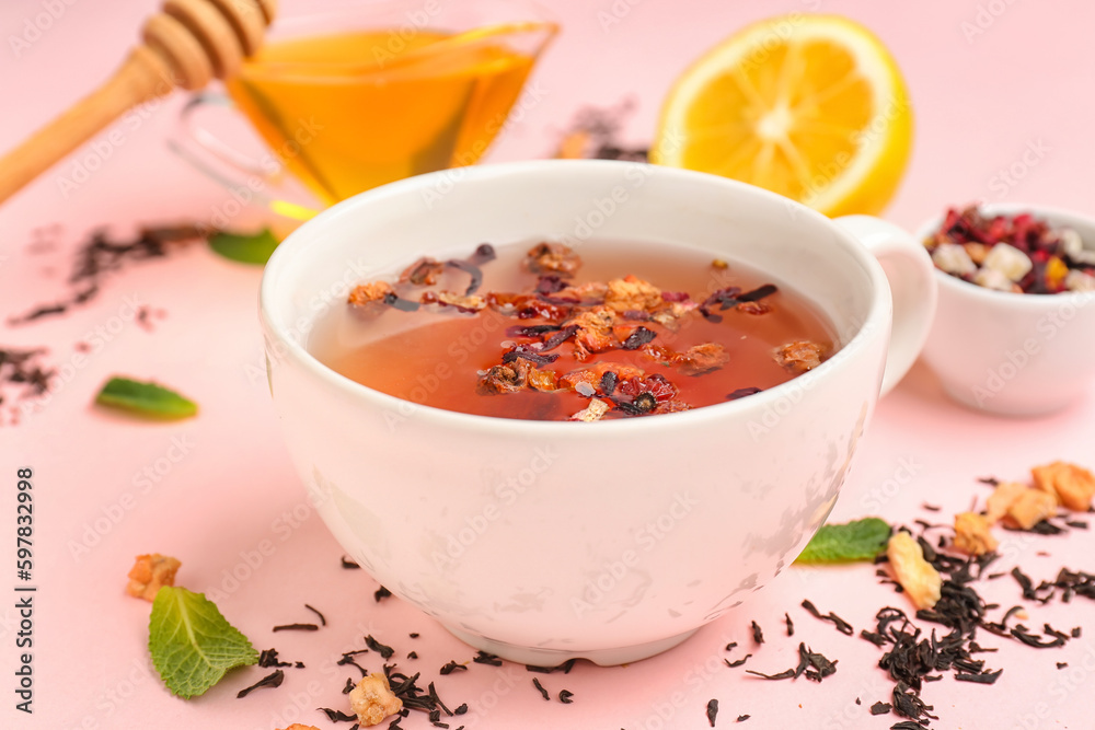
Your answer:
[[[912,147],[912,108],[881,42],[835,15],[754,23],[677,80],[656,163],[768,188],[827,216],[878,213]]]

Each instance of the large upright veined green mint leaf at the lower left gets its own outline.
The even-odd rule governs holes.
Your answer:
[[[164,586],[152,602],[148,650],[173,694],[204,694],[234,667],[258,661],[258,652],[201,593]]]

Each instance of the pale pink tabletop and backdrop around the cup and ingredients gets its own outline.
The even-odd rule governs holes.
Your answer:
[[[456,1],[456,0],[453,0]],[[19,54],[22,36],[48,2],[18,0],[0,7],[0,149],[47,121],[119,62],[140,21],[154,3],[76,0]],[[286,0],[284,14],[304,7]],[[603,15],[619,23],[602,26]],[[852,1],[764,2],[744,8],[721,2],[566,2],[554,8],[564,32],[534,77],[543,100],[494,148],[491,160],[549,154],[556,134],[587,104],[637,101],[627,141],[653,134],[658,105],[672,79],[703,49],[757,18],[791,11],[846,14],[873,28],[894,51],[909,83],[917,117],[908,175],[886,212],[912,228],[945,206],[971,200],[1029,201],[1092,210],[1090,170],[1095,164],[1095,55],[1090,51],[1095,7],[1080,2],[1008,3]],[[977,27],[983,33],[964,34]],[[27,36],[31,37],[31,36]],[[192,171],[164,147],[181,96],[159,105],[127,131],[91,179],[66,197],[58,187],[76,159],[46,173],[0,208],[0,313],[7,317],[65,292],[71,248],[94,227],[125,232],[135,222],[207,219],[224,192]],[[1039,149],[1035,155],[1024,153]],[[1007,171],[1011,171],[1010,173]],[[1003,177],[1010,175],[1011,182]],[[61,245],[32,255],[37,227],[64,227]],[[33,325],[0,325],[0,345],[47,345],[56,366],[72,363],[73,345],[96,327],[115,329],[80,367],[66,368],[48,402],[19,426],[0,427],[0,489],[8,505],[0,518],[0,554],[10,572],[0,579],[0,727],[281,728],[291,721],[335,727],[313,708],[345,707],[339,690],[353,671],[333,665],[339,652],[362,646],[372,634],[405,656],[405,670],[438,679],[449,706],[469,703],[460,721],[471,728],[701,728],[704,707],[718,698],[718,727],[749,714],[750,728],[888,728],[900,718],[869,717],[867,707],[888,699],[891,683],[876,668],[880,651],[841,636],[800,607],[811,599],[856,628],[868,626],[883,605],[908,609],[902,596],[877,584],[868,566],[795,568],[749,602],[702,629],[680,648],[624,668],[581,663],[569,675],[541,676],[574,704],[544,703],[525,668],[472,664],[438,677],[450,659],[473,651],[433,621],[397,600],[373,603],[377,586],[339,568],[334,543],[304,497],[277,430],[265,379],[255,317],[261,271],[194,247],[166,260],[131,267],[111,279],[90,306]],[[166,311],[153,332],[124,318],[127,298]],[[147,425],[93,409],[102,382],[114,373],[155,378],[201,404],[200,417]],[[1035,420],[1007,420],[965,410],[944,398],[922,366],[878,407],[833,519],[877,513],[891,522],[921,518],[948,521],[984,497],[978,476],[1023,478],[1038,463],[1068,459],[1093,464],[1095,397],[1076,394],[1073,408]],[[173,444],[175,450],[172,450]],[[178,448],[182,444],[182,448]],[[185,453],[182,453],[185,451]],[[178,456],[172,462],[171,456]],[[35,472],[35,625],[33,716],[16,712],[12,671],[18,617],[13,609],[15,471]],[[143,480],[143,470],[160,470]],[[906,477],[906,475],[909,475]],[[943,508],[925,512],[929,501]],[[128,507],[127,507],[128,506]],[[113,519],[111,515],[114,515]],[[1002,533],[1005,558],[1036,580],[1059,567],[1092,570],[1095,535],[1031,537]],[[74,551],[84,543],[87,549]],[[151,670],[145,649],[149,606],[122,588],[132,556],[161,552],[183,561],[178,582],[192,590],[220,590],[221,611],[258,648],[275,646],[301,660],[285,684],[244,699],[234,693],[266,673],[233,673],[204,697],[170,696]],[[265,554],[263,554],[265,553]],[[256,557],[257,556],[257,557]],[[250,567],[249,558],[252,563]],[[733,559],[733,558],[727,558]],[[244,566],[244,567],[241,567]],[[233,570],[250,577],[232,582]],[[990,601],[1023,603],[1005,578],[982,584]],[[316,634],[278,634],[275,624],[309,621],[304,602],[323,611],[330,626]],[[1084,637],[1061,649],[1035,650],[988,635],[992,668],[1004,668],[991,687],[930,684],[945,728],[1087,728],[1095,690],[1095,606],[1083,599],[1065,609],[1028,606],[1030,626],[1084,627]],[[782,616],[796,622],[793,639]],[[748,638],[757,619],[766,644]],[[410,631],[422,637],[412,640]],[[798,641],[839,660],[823,685],[765,683],[722,665],[723,646],[738,641],[759,671],[793,665]],[[740,657],[741,649],[730,654]],[[1054,662],[1069,662],[1058,670]],[[379,670],[379,658],[362,663]],[[860,698],[862,705],[856,705]],[[453,718],[457,719],[457,718]],[[349,727],[342,725],[337,727]],[[428,727],[413,716],[404,727]]]

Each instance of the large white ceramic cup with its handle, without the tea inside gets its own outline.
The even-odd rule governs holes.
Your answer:
[[[887,278],[849,231],[892,275],[892,344]],[[812,301],[840,349],[749,397],[593,424],[416,406],[307,349],[310,323],[345,305],[347,283],[420,255],[597,239],[746,262]],[[883,221],[834,223],[702,173],[540,161],[434,173],[333,207],[278,247],[261,309],[289,452],[338,542],[472,646],[555,665],[657,653],[788,566],[832,508],[879,391],[915,358],[934,302],[923,247]]]

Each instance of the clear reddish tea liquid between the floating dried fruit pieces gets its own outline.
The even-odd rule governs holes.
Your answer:
[[[543,286],[542,276],[527,268],[528,246],[498,246],[497,258],[482,265],[483,285],[480,293],[528,292]],[[470,252],[461,252],[466,254]],[[679,298],[679,292],[691,294],[691,310],[665,326],[650,318],[635,318],[641,312],[621,312],[614,317],[611,336],[614,345],[604,351],[585,351],[576,343],[577,336],[565,338],[550,350],[546,357],[557,356],[553,362],[538,364],[518,363],[531,370],[533,385],[544,378],[552,381],[554,390],[545,392],[530,385],[516,392],[493,392],[484,387],[492,368],[503,367],[508,351],[522,348],[532,351],[538,340],[550,340],[567,335],[567,324],[574,320],[566,314],[554,318],[529,316],[521,305],[515,308],[487,305],[481,311],[461,313],[452,306],[423,305],[406,312],[374,302],[366,312],[355,306],[336,306],[316,323],[309,341],[309,349],[335,371],[383,393],[448,410],[483,416],[534,420],[565,420],[590,405],[592,399],[615,403],[601,417],[618,418],[639,415],[632,405],[643,390],[632,387],[629,394],[625,380],[641,371],[636,383],[647,382],[654,390],[661,389],[659,376],[671,384],[676,393],[661,397],[657,393],[657,409],[664,413],[678,409],[665,404],[672,401],[688,407],[723,403],[730,394],[742,389],[765,390],[783,383],[796,374],[794,368],[781,364],[776,352],[789,343],[808,341],[819,346],[822,359],[833,351],[830,324],[816,308],[802,297],[780,287],[757,302],[735,304],[726,310],[719,303],[707,306],[710,316],[696,311],[696,303],[708,300],[714,292],[758,291],[772,281],[763,274],[729,263],[725,268],[713,266],[710,253],[684,246],[636,245],[618,242],[591,242],[580,251],[583,265],[568,280],[572,288],[581,285],[620,279],[634,275],[660,288],[664,298]],[[394,280],[394,277],[392,277]],[[445,267],[435,286],[428,290],[463,292],[469,283],[464,270]],[[779,282],[776,282],[779,283]],[[556,285],[557,286],[557,285]],[[426,288],[407,283],[395,285],[403,300],[417,300]],[[567,290],[542,294],[537,299],[544,304],[566,298]],[[489,301],[492,296],[484,297]],[[717,294],[716,294],[717,296]],[[745,296],[739,294],[739,296]],[[428,297],[427,297],[428,298]],[[662,300],[665,301],[665,300]],[[670,306],[669,302],[665,308]],[[377,309],[379,308],[379,309]],[[654,309],[664,308],[655,304]],[[681,308],[683,309],[682,304]],[[552,310],[552,306],[544,306]],[[566,309],[556,306],[555,309]],[[520,314],[520,316],[519,316]],[[574,317],[575,310],[569,310]],[[657,317],[657,315],[655,315]],[[716,321],[721,320],[721,321]],[[553,328],[532,336],[528,327]],[[623,349],[637,328],[654,335],[653,339],[635,349]],[[639,339],[649,335],[639,333]],[[531,347],[530,347],[531,346]],[[689,360],[681,354],[692,348],[716,346],[725,355],[725,364],[713,361]],[[708,347],[708,349],[712,349]],[[512,356],[508,356],[512,358]],[[541,358],[544,355],[540,356]],[[675,360],[676,357],[676,360]],[[509,367],[517,360],[511,359]],[[706,366],[717,364],[710,371]],[[629,370],[631,368],[632,370]],[[581,378],[573,373],[612,369],[619,375],[615,383],[602,383],[599,376]],[[693,374],[702,371],[700,374]],[[550,373],[550,376],[545,375]],[[568,373],[570,376],[568,378]],[[603,373],[600,373],[603,374]],[[655,376],[650,381],[650,376]],[[575,386],[578,381],[589,381]],[[607,393],[604,385],[613,385]],[[591,385],[591,387],[590,387]],[[741,393],[738,394],[739,396]],[[622,405],[620,405],[622,403]]]

